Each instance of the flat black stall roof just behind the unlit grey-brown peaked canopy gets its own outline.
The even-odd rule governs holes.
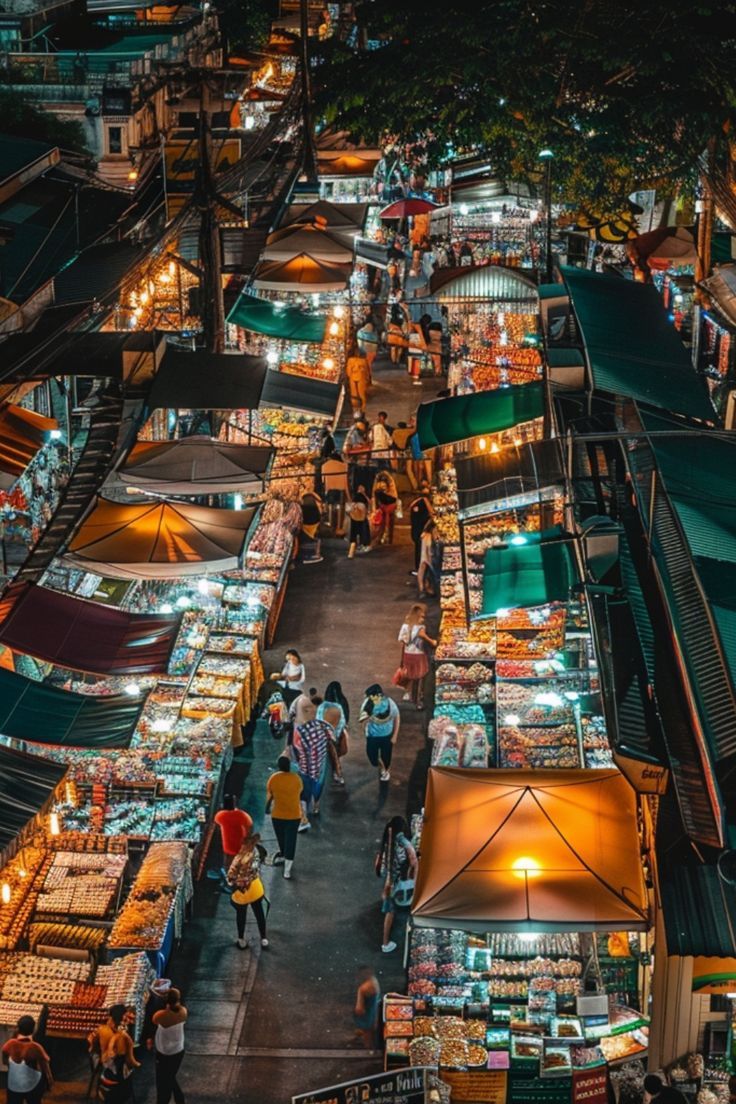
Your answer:
[[[266,368],[265,357],[186,352],[169,346],[148,403],[151,410],[255,410]]]

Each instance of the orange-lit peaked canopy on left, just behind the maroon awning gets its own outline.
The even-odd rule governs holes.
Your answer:
[[[124,505],[98,498],[64,559],[111,578],[234,571],[255,513],[255,509],[212,510],[162,501]]]

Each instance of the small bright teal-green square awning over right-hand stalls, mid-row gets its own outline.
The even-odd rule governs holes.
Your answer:
[[[573,542],[561,529],[510,535],[504,548],[490,548],[483,565],[483,617],[499,609],[566,602],[575,582]]]

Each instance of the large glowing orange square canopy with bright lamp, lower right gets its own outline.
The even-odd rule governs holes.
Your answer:
[[[637,804],[618,771],[429,771],[420,927],[646,931]]]

